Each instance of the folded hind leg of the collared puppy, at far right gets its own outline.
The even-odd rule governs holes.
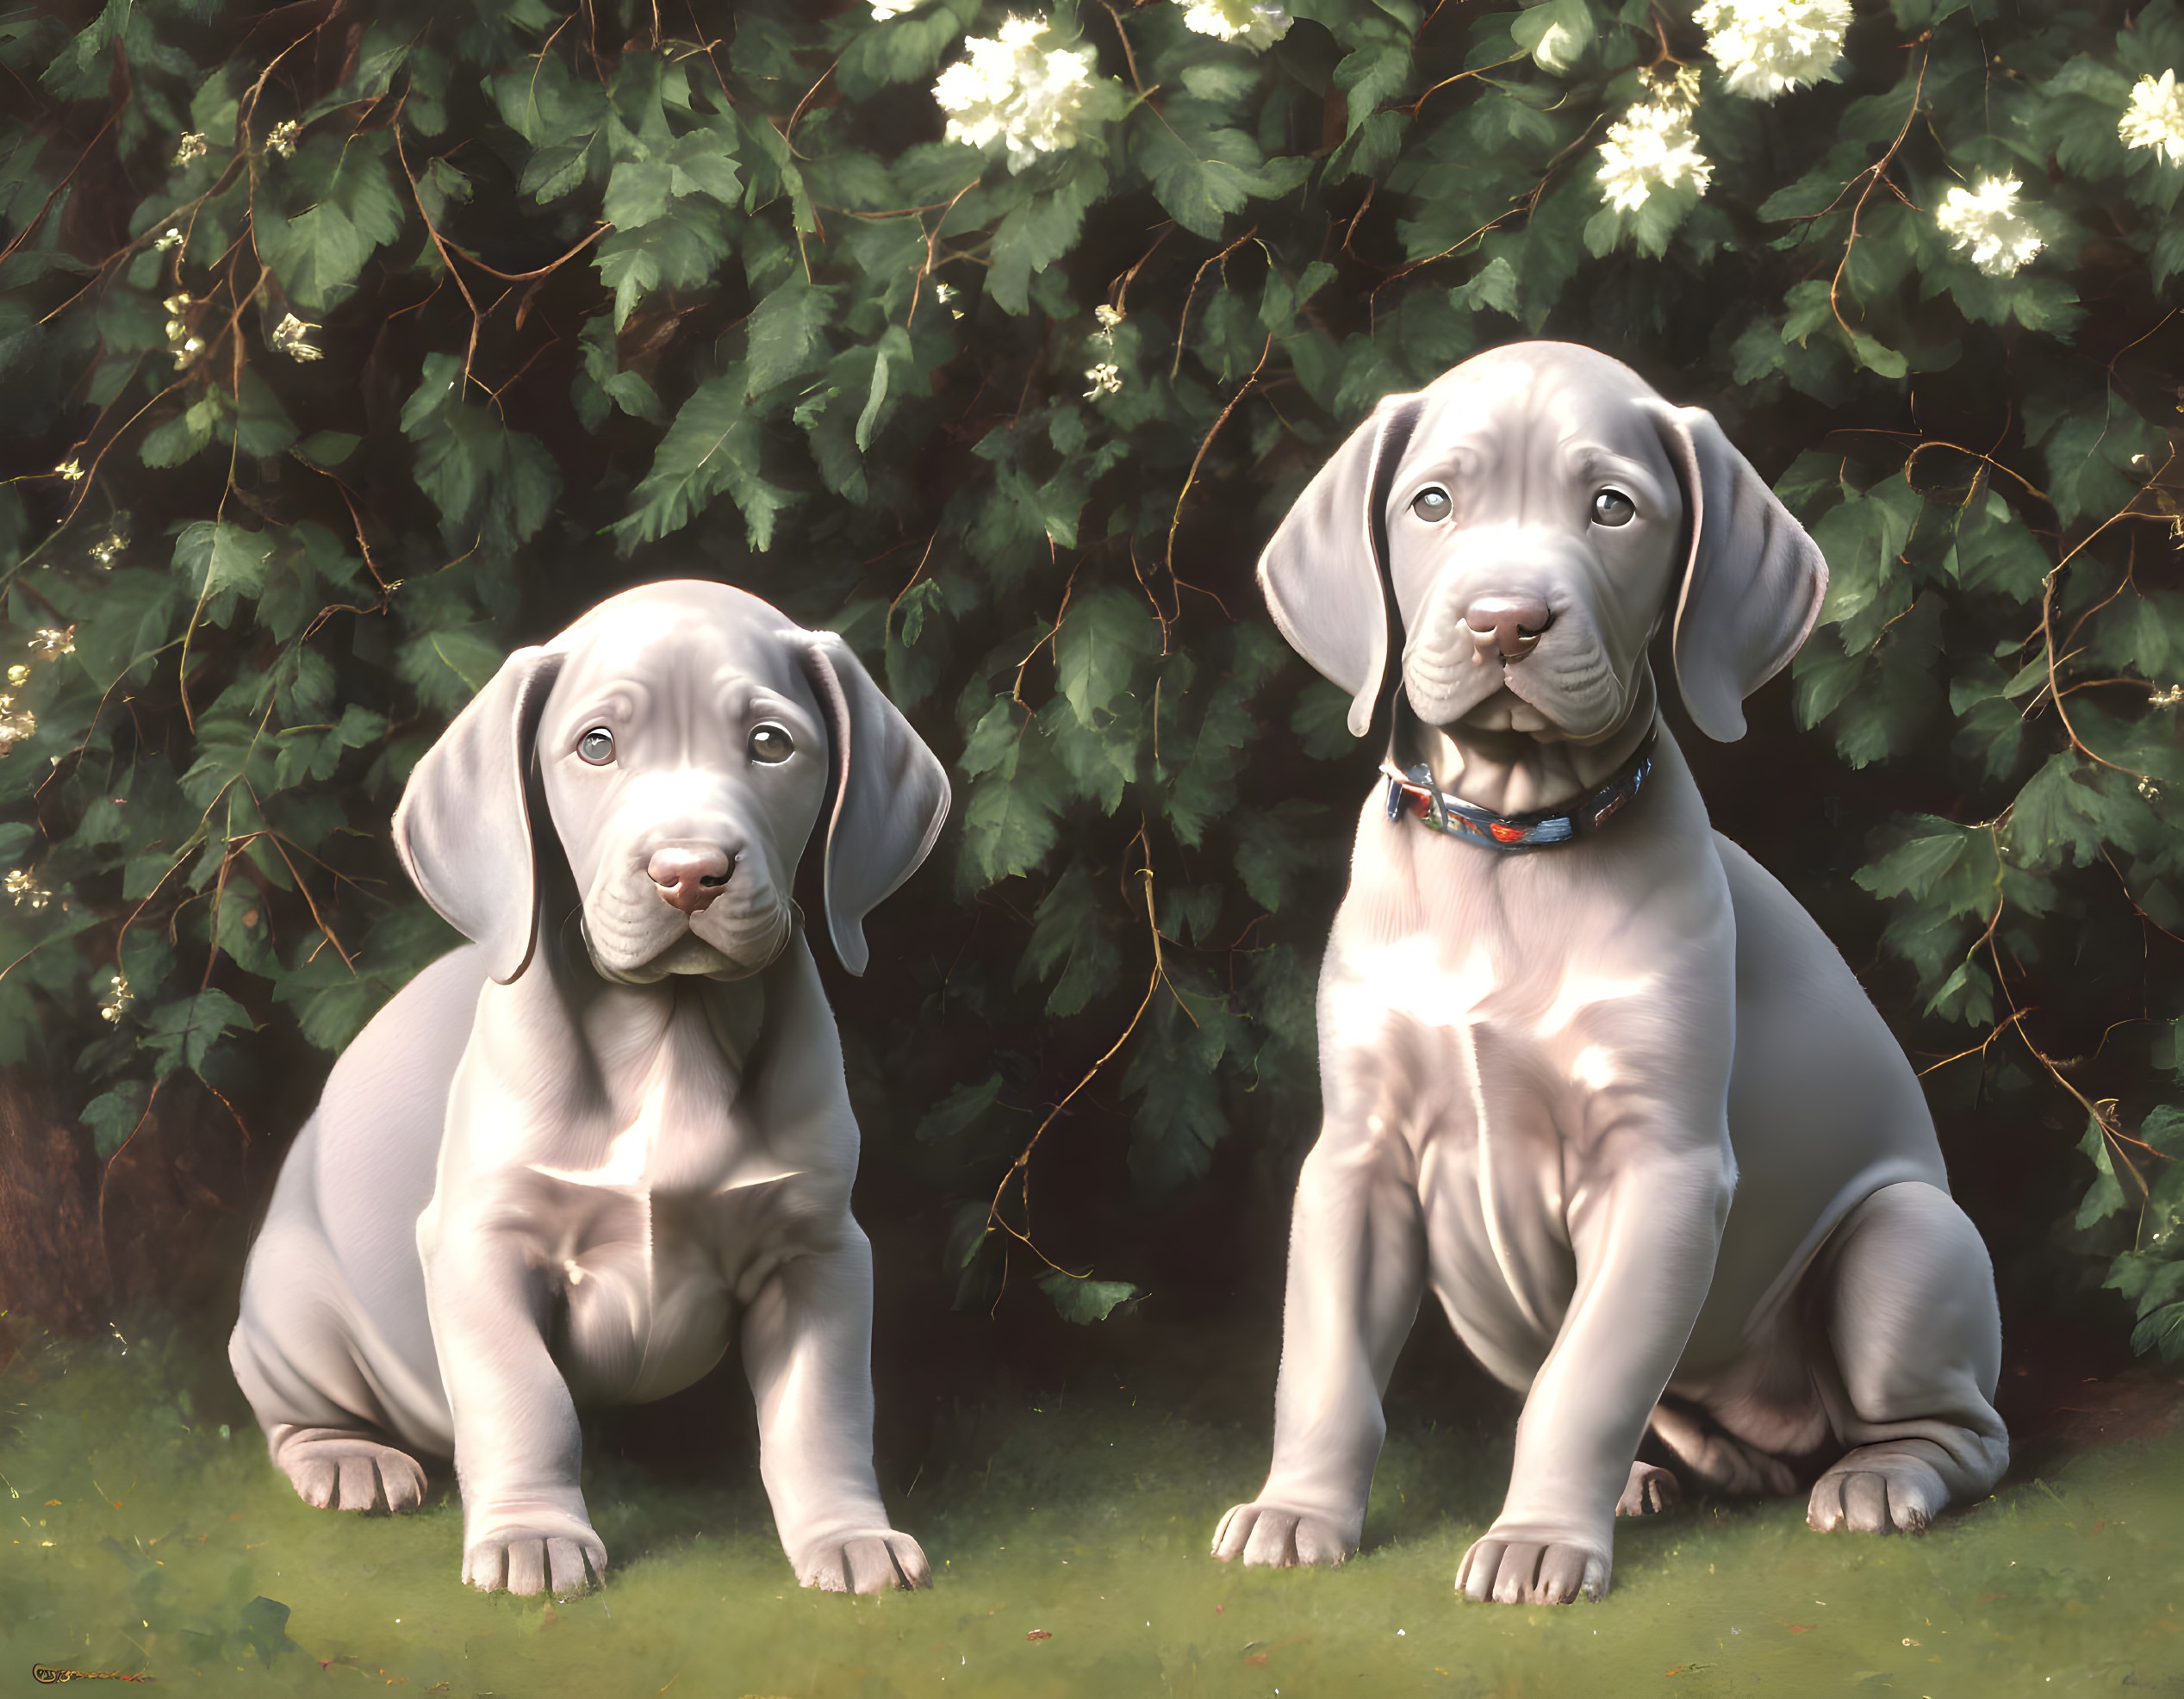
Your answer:
[[[1918,1533],[2009,1465],[1994,1267],[1948,1192],[1915,1179],[1852,1210],[1828,1258],[1839,1385],[1824,1374],[1821,1395],[1850,1452],[1813,1485],[1806,1522]]]

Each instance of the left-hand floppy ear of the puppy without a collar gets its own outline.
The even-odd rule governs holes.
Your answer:
[[[500,985],[531,965],[539,878],[524,780],[561,660],[550,649],[509,655],[424,751],[395,808],[402,871],[441,919],[485,948]]]

